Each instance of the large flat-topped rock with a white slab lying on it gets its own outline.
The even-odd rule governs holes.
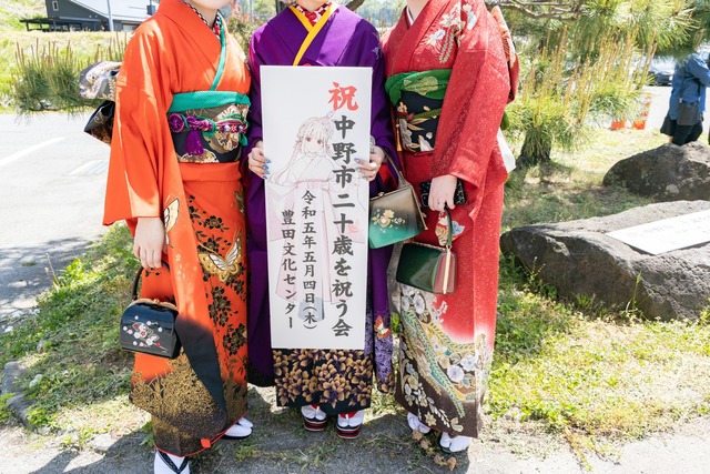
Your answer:
[[[594,296],[612,309],[630,303],[647,317],[692,320],[710,305],[710,243],[650,255],[605,233],[708,209],[709,201],[678,201],[528,225],[503,234],[500,248],[554,284],[560,296]]]

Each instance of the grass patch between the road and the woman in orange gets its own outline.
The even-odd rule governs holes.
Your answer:
[[[125,226],[114,226],[58,274],[37,315],[0,336],[0,363],[23,360],[28,366],[21,386],[32,403],[33,425],[105,430],[104,423],[130,406],[131,357],[119,347],[118,320],[136,270],[131,248]],[[105,420],[95,423],[97,416]]]

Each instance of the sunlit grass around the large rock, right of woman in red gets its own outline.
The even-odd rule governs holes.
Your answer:
[[[504,231],[649,203],[601,180],[616,161],[666,141],[653,131],[600,130],[592,149],[557,153],[551,167],[516,172]],[[703,314],[697,323],[643,321],[632,309],[610,313],[585,297],[561,302],[552,285],[501,258],[488,396],[494,424],[542,426],[580,454],[706,414],[710,326]]]

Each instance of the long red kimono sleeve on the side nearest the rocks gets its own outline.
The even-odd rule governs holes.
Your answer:
[[[471,215],[483,199],[490,160],[505,167],[497,147],[497,132],[510,94],[510,72],[500,33],[483,2],[465,1],[468,22],[452,69],[438,135],[433,175],[453,174],[474,188]],[[473,27],[471,27],[473,23]],[[468,193],[468,191],[467,191]]]

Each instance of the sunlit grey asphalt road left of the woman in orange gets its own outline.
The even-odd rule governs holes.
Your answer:
[[[109,147],[88,115],[0,115],[0,326],[104,232]]]

